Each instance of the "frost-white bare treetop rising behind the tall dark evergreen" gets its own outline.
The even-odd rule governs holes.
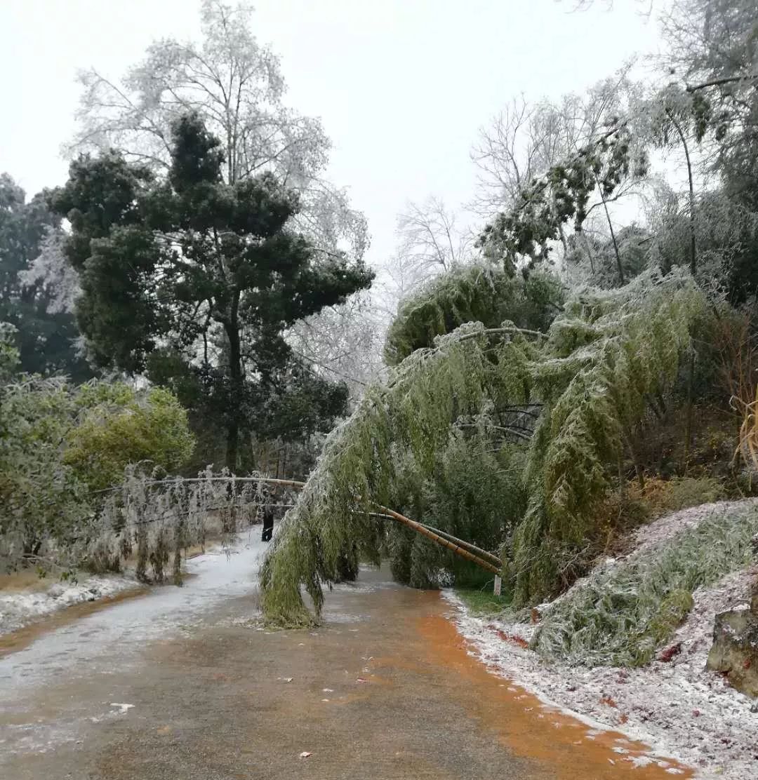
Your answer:
[[[233,8],[203,0],[201,42],[156,41],[120,80],[94,68],[80,73],[79,128],[64,152],[113,148],[165,168],[172,122],[198,112],[224,144],[229,183],[276,172],[300,193],[298,229],[317,246],[360,257],[367,246],[365,218],[326,180],[329,138],[318,119],[284,104],[279,59],[256,41],[251,12],[244,2]]]

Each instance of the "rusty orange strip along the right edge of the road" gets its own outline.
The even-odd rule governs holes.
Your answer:
[[[675,761],[651,760],[649,747],[643,743],[620,732],[591,729],[489,672],[468,653],[467,641],[443,615],[419,619],[418,630],[425,639],[428,660],[460,679],[462,704],[472,717],[495,732],[514,755],[543,761],[560,780],[693,777],[692,770]],[[390,665],[390,659],[382,661]],[[398,664],[404,662],[407,659],[397,659]],[[508,690],[509,686],[514,690]]]

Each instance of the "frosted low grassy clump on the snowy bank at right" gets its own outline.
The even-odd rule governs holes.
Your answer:
[[[692,608],[692,591],[753,559],[751,503],[714,509],[695,528],[596,570],[547,610],[532,647],[575,664],[648,663]]]

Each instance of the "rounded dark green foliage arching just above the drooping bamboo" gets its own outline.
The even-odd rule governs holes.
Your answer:
[[[514,275],[483,265],[456,268],[400,303],[387,332],[384,357],[396,366],[465,322],[495,328],[510,321],[519,328],[546,331],[562,305],[563,289],[549,271]]]

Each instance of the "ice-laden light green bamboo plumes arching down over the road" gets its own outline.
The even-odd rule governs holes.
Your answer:
[[[528,509],[508,563],[519,602],[550,593],[562,562],[592,531],[588,518],[612,485],[625,431],[641,419],[650,393],[674,383],[704,307],[684,271],[649,272],[621,289],[578,293],[546,339],[508,324],[488,332],[469,323],[411,353],[329,435],[263,566],[267,618],[310,622],[301,585],[318,615],[321,583],[340,578],[341,558],[378,561],[384,534],[370,505],[389,503],[398,453],[429,476],[457,417],[492,402],[544,405],[520,485]],[[365,512],[352,511],[356,495]]]

